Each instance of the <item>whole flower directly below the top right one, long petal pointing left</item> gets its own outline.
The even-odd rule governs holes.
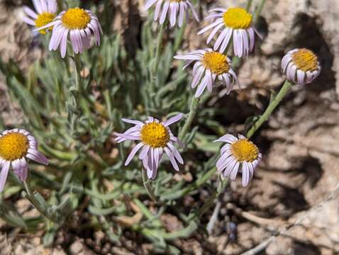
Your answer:
[[[196,61],[193,66],[193,80],[191,82],[192,89],[199,84],[198,89],[196,89],[196,97],[201,96],[206,87],[211,92],[216,78],[226,86],[227,94],[232,90],[234,82],[239,84],[238,77],[231,68],[230,59],[221,52],[215,52],[212,49],[196,50],[187,55],[174,56],[174,58],[187,60],[184,68]]]

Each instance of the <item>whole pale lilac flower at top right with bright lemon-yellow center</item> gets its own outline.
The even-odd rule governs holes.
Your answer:
[[[233,35],[233,51],[237,57],[247,56],[255,45],[255,33],[257,30],[252,23],[252,14],[248,13],[244,8],[213,8],[211,11],[216,11],[205,19],[214,19],[213,23],[201,29],[198,35],[205,33],[213,28],[207,38],[207,44],[220,30],[216,42],[213,45],[213,50],[224,52]],[[259,35],[259,33],[257,33]]]

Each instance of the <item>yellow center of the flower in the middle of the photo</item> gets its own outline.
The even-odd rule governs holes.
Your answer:
[[[150,147],[163,148],[170,141],[170,134],[164,125],[155,122],[148,123],[141,129],[141,140]]]

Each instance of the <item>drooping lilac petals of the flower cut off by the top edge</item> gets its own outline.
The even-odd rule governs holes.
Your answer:
[[[196,21],[199,22],[199,17],[196,14],[196,11],[194,11],[191,1],[189,0],[148,0],[144,7],[145,10],[148,10],[155,3],[157,3],[157,5],[155,6],[154,21],[157,21],[157,19],[160,17],[160,24],[165,22],[167,12],[169,12],[171,27],[175,25],[178,18],[178,26],[181,28],[184,21],[184,16],[186,15],[187,18],[189,16],[189,8],[191,8]],[[160,14],[161,8],[162,11]],[[177,17],[178,14],[179,17]]]

